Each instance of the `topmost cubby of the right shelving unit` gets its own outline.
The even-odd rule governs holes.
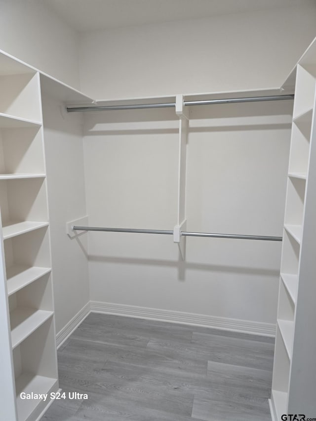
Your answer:
[[[314,69],[304,69],[297,66],[295,104],[293,109],[293,118],[310,110],[315,101],[315,73]]]

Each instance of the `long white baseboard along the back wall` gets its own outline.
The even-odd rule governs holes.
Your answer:
[[[250,333],[253,335],[272,337],[276,335],[276,325],[272,323],[175,312],[172,310],[159,310],[147,307],[90,301],[90,311],[92,313],[105,313],[118,316],[167,321],[170,323],[189,324],[193,326],[205,326],[222,330]]]

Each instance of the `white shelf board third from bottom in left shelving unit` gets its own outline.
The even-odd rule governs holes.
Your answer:
[[[19,289],[38,280],[50,271],[50,268],[41,268],[37,266],[11,266],[6,271],[8,295],[14,294]]]

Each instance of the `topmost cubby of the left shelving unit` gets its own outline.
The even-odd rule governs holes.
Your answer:
[[[0,75],[0,113],[40,122],[39,77],[37,72]]]

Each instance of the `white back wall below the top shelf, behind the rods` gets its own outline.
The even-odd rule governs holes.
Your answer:
[[[282,235],[291,102],[192,107],[187,229]],[[92,226],[172,230],[173,109],[85,116]],[[91,300],[266,323],[276,321],[281,243],[89,233]]]

